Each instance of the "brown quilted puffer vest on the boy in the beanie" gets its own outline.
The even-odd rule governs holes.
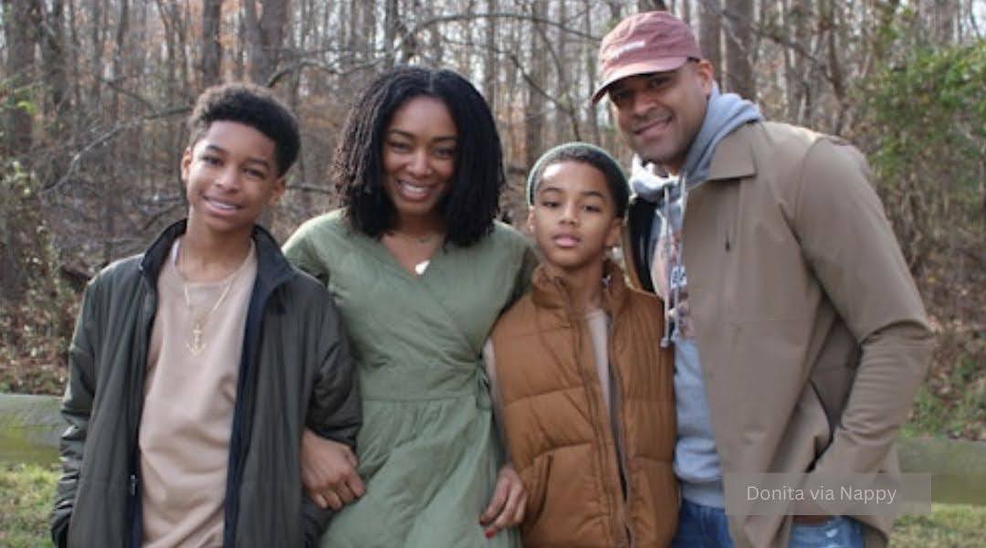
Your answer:
[[[493,329],[507,445],[528,490],[528,547],[664,547],[674,533],[673,354],[661,301],[606,263],[613,420],[585,314],[539,267]],[[612,424],[616,424],[615,432]]]

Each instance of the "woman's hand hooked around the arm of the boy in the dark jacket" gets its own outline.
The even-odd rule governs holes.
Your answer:
[[[349,445],[321,438],[307,428],[302,434],[302,485],[319,508],[339,511],[363,496],[366,488],[356,473],[358,462]]]

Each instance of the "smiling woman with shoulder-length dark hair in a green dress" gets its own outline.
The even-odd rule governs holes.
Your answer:
[[[323,494],[333,506],[359,498],[322,545],[517,546],[516,528],[497,531],[520,522],[526,494],[500,469],[480,354],[535,258],[494,219],[504,174],[493,116],[458,74],[399,67],[357,100],[339,143],[343,209],[285,244],[334,295],[364,401],[366,492]]]

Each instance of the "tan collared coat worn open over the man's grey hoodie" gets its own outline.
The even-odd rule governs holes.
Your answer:
[[[691,314],[724,475],[898,473],[894,438],[933,338],[862,154],[781,123],[741,127],[689,192],[682,234]],[[631,207],[636,287],[653,205]],[[642,238],[643,235],[643,238]],[[867,546],[889,518],[857,516]],[[790,518],[731,517],[737,546],[786,546]]]

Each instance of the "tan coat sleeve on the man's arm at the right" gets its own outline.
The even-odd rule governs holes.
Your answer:
[[[821,139],[806,157],[795,230],[815,276],[862,346],[819,471],[876,471],[928,372],[934,341],[870,170],[854,147]]]

